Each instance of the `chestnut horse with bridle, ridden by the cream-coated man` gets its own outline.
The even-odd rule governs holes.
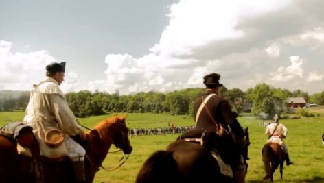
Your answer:
[[[86,132],[86,142],[82,145],[86,149],[84,158],[86,183],[93,182],[95,173],[99,171],[99,167],[102,167],[101,164],[111,145],[120,148],[127,158],[132,152],[125,120],[126,116],[114,116],[101,121],[93,130]],[[39,148],[36,140],[35,143],[32,148]],[[67,157],[53,160],[37,154],[33,154],[32,158],[22,156],[17,154],[15,141],[0,136],[0,182],[54,183],[75,182],[75,180],[71,160]]]

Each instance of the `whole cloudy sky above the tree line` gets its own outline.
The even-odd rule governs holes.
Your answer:
[[[0,90],[67,62],[64,92],[132,94],[266,83],[324,90],[324,1],[0,1]]]

